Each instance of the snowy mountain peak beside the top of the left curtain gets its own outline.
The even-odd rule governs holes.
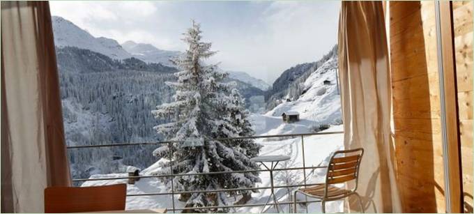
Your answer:
[[[79,47],[90,49],[109,56],[112,59],[127,59],[132,57],[116,40],[110,38],[95,38],[84,29],[80,29],[72,22],[63,17],[52,17],[54,45],[57,47]]]

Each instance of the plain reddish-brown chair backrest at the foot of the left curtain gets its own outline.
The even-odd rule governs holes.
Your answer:
[[[45,213],[77,213],[125,210],[127,185],[45,189]]]

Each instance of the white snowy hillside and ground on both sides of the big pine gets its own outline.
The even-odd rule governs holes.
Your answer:
[[[337,56],[324,61],[318,69],[312,72],[305,82],[303,82],[303,94],[298,99],[291,102],[282,102],[274,109],[266,114],[252,114],[251,121],[256,131],[255,135],[277,135],[277,134],[298,134],[314,132],[314,128],[319,125],[330,124],[328,130],[322,132],[340,132],[342,125],[340,98],[337,91],[337,84],[335,82],[335,72],[337,68]],[[324,84],[325,80],[329,80],[329,84]],[[285,111],[299,112],[300,121],[295,123],[283,123],[281,113]],[[305,151],[311,151],[305,155],[305,165],[310,166],[325,166],[328,164],[328,158],[331,153],[344,148],[344,135],[312,135],[304,137]],[[292,168],[303,167],[303,148],[301,137],[295,138],[271,138],[271,139],[256,139],[258,144],[261,144],[260,155],[288,155],[290,160],[282,162],[278,168]],[[150,175],[151,171],[156,171],[160,167],[157,162],[147,169],[142,171],[142,175]],[[262,167],[263,168],[263,167]],[[286,180],[288,171],[275,171],[274,182],[275,185],[294,185],[303,183],[303,171],[293,171],[290,174],[294,182],[288,183]],[[315,169],[307,170],[306,183],[323,183],[325,170]],[[105,174],[94,175],[91,178],[116,178],[126,176],[125,174]],[[258,187],[270,186],[270,175],[266,172],[260,174],[261,183]],[[112,183],[126,183],[126,180],[105,180],[105,181],[88,181],[84,186],[90,185],[107,185]],[[286,190],[279,188],[275,190],[275,194],[279,201],[291,200],[291,194],[294,189]],[[146,194],[153,192],[167,192],[164,184],[155,178],[142,178],[137,181],[135,185],[128,185],[128,194]],[[267,201],[270,196],[270,190],[261,190],[252,194],[252,199],[247,201],[247,204],[262,204]],[[229,202],[235,199],[229,198]],[[298,200],[305,200],[305,197],[300,195]],[[178,195],[174,196],[175,206],[183,207],[184,203],[178,200]],[[326,204],[326,209],[333,212],[342,212],[344,204],[341,201],[333,201]],[[127,197],[127,208],[171,208],[172,197],[170,195],[155,195],[151,197]],[[282,205],[284,212],[289,212],[289,206]],[[308,210],[303,206],[299,206],[298,213],[321,212],[321,205],[319,203],[309,204]],[[235,213],[260,213],[261,207],[243,207],[232,210]],[[276,213],[274,208],[268,208],[265,213]]]

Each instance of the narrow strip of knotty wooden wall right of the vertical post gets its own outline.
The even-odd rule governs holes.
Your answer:
[[[473,212],[473,1],[452,3],[464,211]]]

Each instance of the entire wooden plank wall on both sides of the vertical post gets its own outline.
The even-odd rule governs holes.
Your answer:
[[[397,183],[404,212],[445,212],[432,1],[390,2]],[[473,212],[473,1],[452,3],[464,211]],[[449,114],[449,112],[448,112]]]

